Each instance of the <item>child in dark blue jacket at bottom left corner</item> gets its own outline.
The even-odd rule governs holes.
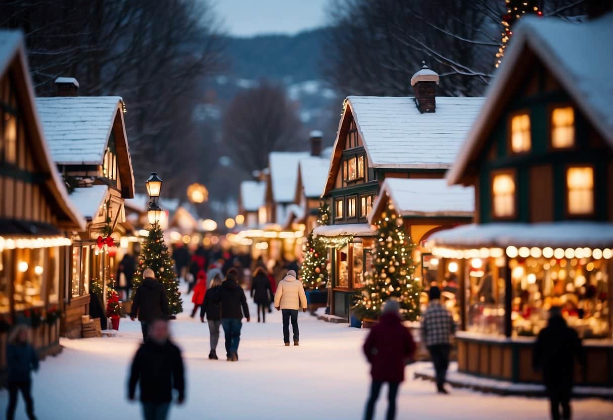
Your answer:
[[[7,388],[9,389],[9,406],[6,409],[7,420],[15,418],[18,392],[26,403],[28,419],[36,420],[34,416],[34,400],[32,399],[32,376],[39,368],[36,350],[29,343],[28,328],[25,325],[16,326],[9,335],[6,346]]]

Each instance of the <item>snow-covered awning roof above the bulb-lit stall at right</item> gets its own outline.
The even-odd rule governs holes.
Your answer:
[[[611,247],[613,223],[484,223],[433,233],[428,247]]]

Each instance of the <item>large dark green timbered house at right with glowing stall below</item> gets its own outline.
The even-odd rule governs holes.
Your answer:
[[[459,267],[460,372],[539,381],[532,345],[561,306],[587,349],[576,384],[613,385],[613,14],[527,17],[449,171],[476,224],[433,234]]]

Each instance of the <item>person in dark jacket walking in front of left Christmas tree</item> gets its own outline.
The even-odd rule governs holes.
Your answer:
[[[134,293],[130,318],[139,318],[140,328],[143,331],[143,341],[147,340],[149,324],[156,318],[168,316],[168,301],[164,285],[155,278],[152,269],[143,271],[143,282]]]

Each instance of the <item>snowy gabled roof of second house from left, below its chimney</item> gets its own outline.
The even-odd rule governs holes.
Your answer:
[[[115,135],[118,169],[128,197],[134,197],[134,171],[120,96],[37,98],[40,121],[58,165],[102,165],[109,138]]]

